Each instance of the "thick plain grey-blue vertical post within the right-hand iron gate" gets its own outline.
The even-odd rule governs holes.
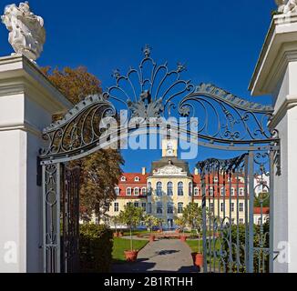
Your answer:
[[[254,198],[254,153],[249,152],[249,196],[250,196],[250,219],[249,219],[249,266],[248,273],[253,273],[253,198]]]

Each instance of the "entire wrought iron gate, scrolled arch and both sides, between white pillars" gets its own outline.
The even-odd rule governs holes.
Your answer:
[[[168,120],[172,117],[180,119],[170,124],[170,130],[179,136],[186,135],[192,143],[214,151],[236,153],[234,156],[242,154],[229,160],[209,159],[198,165],[203,189],[205,272],[272,272],[273,176],[277,175],[274,162],[280,150],[278,132],[269,127],[273,107],[241,99],[215,85],[193,85],[181,78],[184,65],[179,63],[170,70],[167,63],[158,65],[152,59],[148,46],[143,53],[138,67],[131,67],[127,75],[114,72],[116,85],[100,95],[88,95],[61,120],[44,129],[46,146],[39,158],[43,168],[45,272],[68,272],[77,266],[69,260],[77,256],[77,241],[73,237],[77,235],[78,181],[75,179],[74,184],[67,181],[70,187],[63,196],[64,163],[118,144],[136,129],[138,135],[140,130],[146,135],[148,128],[156,129],[149,133],[166,128],[167,134]],[[127,115],[121,115],[122,110]],[[214,179],[215,173],[218,181]],[[237,196],[232,202],[232,193],[226,190],[230,185],[228,178],[234,176],[244,180],[244,189],[242,192],[239,185],[235,186]],[[266,196],[262,195],[263,187]],[[69,199],[72,194],[75,198]],[[268,199],[267,231],[263,211]],[[254,226],[253,221],[255,201],[260,209],[259,226]],[[244,217],[241,217],[242,207]],[[66,231],[63,244],[61,213],[64,214],[62,229]]]

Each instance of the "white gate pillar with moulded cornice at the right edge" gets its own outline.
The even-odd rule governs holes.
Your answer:
[[[274,178],[274,272],[297,272],[297,14],[275,15],[252,76],[252,95],[272,95],[281,138]],[[288,248],[289,246],[289,248]],[[286,252],[288,250],[289,252]]]

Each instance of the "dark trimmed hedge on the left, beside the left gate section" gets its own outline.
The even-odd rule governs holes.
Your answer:
[[[79,227],[79,266],[82,273],[108,273],[112,263],[113,233],[108,226]]]

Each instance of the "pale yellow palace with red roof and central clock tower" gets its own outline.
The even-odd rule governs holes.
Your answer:
[[[244,224],[249,213],[243,176],[208,176],[206,207],[214,216],[230,217],[233,224]],[[189,164],[178,158],[178,142],[162,141],[162,157],[151,163],[150,171],[124,173],[116,186],[117,199],[111,203],[108,216],[118,216],[129,203],[142,207],[148,215],[162,218],[165,227],[175,227],[174,218],[182,216],[189,203],[202,206],[199,171],[191,173]]]

